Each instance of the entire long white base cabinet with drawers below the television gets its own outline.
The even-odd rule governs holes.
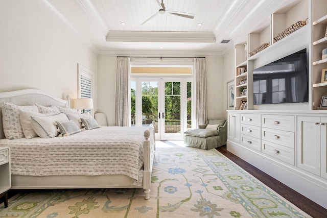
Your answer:
[[[227,151],[327,208],[327,111],[232,110],[228,117]]]

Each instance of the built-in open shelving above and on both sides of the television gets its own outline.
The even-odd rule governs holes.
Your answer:
[[[312,8],[312,11],[310,11]],[[312,22],[312,20],[315,20]],[[274,40],[278,34],[282,33],[290,26],[294,25],[298,21],[306,21],[307,25],[295,30],[289,35],[283,37],[279,40]],[[305,37],[310,36],[311,32],[311,23],[313,23],[313,37]],[[323,95],[323,90],[327,90],[327,83],[321,83],[321,72],[322,69],[327,68],[327,59],[321,60],[321,51],[324,48],[327,48],[327,36],[325,36],[327,26],[327,1],[325,0],[298,0],[293,2],[292,4],[286,5],[283,8],[279,8],[274,13],[270,15],[267,19],[263,20],[261,24],[255,30],[252,30],[248,34],[247,41],[244,43],[239,43],[235,45],[235,109],[238,110],[241,102],[247,101],[247,109],[253,109],[253,69],[254,66],[258,67],[257,59],[261,59],[261,57],[270,55],[271,51],[278,50],[283,51],[289,50],[289,54],[292,54],[294,50],[294,46],[292,47],[292,43],[294,38],[299,40],[305,40],[303,46],[308,46],[309,55],[310,54],[310,44],[313,44],[312,58],[309,57],[311,65],[308,66],[309,71],[316,71],[314,75],[312,75],[310,85],[313,91],[309,91],[312,94],[312,99],[310,100],[310,104],[308,109],[317,109],[320,107],[321,96]],[[318,34],[318,36],[315,36]],[[261,46],[262,44],[268,44],[269,46],[263,49],[262,51],[250,55],[250,52]],[[247,48],[244,48],[244,45],[247,45]],[[246,51],[246,54],[244,54]],[[276,52],[272,52],[276,54]],[[287,53],[287,52],[286,52]],[[277,54],[278,55],[278,54]],[[275,55],[277,57],[277,55]],[[279,57],[282,58],[282,57]],[[276,58],[275,60],[279,59]],[[317,65],[316,67],[313,67]],[[245,67],[246,74],[240,75],[239,68]],[[256,68],[255,67],[255,68]],[[319,71],[319,72],[318,72]],[[312,73],[313,74],[313,73]],[[311,75],[311,72],[309,72]],[[247,82],[244,85],[241,85],[240,82],[242,79],[246,79]],[[240,88],[247,89],[247,95],[241,96],[239,89]],[[327,95],[327,92],[325,93]],[[312,101],[312,102],[311,102]],[[313,106],[311,106],[311,103]]]

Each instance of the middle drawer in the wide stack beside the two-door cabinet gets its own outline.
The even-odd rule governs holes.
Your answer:
[[[281,144],[290,149],[295,148],[294,132],[262,128],[262,139],[276,144]]]

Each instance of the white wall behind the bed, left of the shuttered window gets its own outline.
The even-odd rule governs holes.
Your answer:
[[[41,89],[76,98],[77,63],[97,81],[97,55],[44,1],[2,0],[0,30],[0,92]]]

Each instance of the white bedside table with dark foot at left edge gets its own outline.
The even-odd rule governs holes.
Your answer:
[[[8,190],[10,187],[10,149],[9,147],[0,147],[0,199],[5,197],[5,208],[8,207]]]

